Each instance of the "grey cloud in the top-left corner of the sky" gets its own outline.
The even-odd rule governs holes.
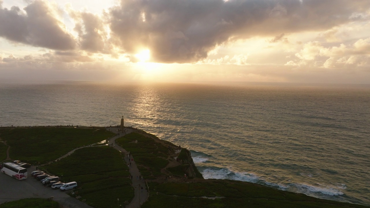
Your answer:
[[[0,1],[0,37],[31,46],[56,50],[75,48],[73,36],[65,31],[64,24],[57,19],[59,12],[46,1],[36,0],[24,8],[10,10]]]

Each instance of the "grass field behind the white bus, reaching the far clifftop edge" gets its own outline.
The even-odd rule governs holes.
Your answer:
[[[55,160],[74,148],[105,140],[114,133],[93,128],[1,129],[0,137],[10,145],[10,158],[31,164]]]

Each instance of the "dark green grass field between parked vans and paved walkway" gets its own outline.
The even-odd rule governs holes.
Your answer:
[[[42,168],[63,175],[63,182],[76,181],[80,200],[95,208],[115,207],[117,198],[123,203],[134,197],[124,155],[111,147],[82,148]]]

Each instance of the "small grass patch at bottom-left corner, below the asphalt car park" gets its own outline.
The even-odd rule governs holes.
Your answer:
[[[0,208],[58,208],[59,204],[55,201],[40,198],[20,199],[17,201],[5,202],[0,204]]]

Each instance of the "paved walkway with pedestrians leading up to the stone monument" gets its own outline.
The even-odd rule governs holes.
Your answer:
[[[112,127],[107,128],[108,131],[112,131],[114,133],[119,133],[120,134],[120,135],[117,135],[117,136],[114,136],[114,137],[110,138],[109,144],[110,145],[112,144],[113,148],[115,148],[116,150],[118,150],[118,151],[122,152],[124,155],[126,155],[126,154],[128,154],[128,152],[124,148],[117,145],[115,143],[115,140],[119,137],[123,137],[124,135],[131,133],[134,130],[132,130],[131,128],[125,128],[126,133],[122,133],[122,131],[118,132],[118,129],[119,128],[112,128]],[[135,196],[131,200],[131,202],[128,205],[126,205],[126,207],[127,208],[138,208],[138,207],[141,206],[141,204],[143,204],[147,200],[148,191],[145,188],[146,187],[145,181],[144,180],[139,180],[139,176],[141,174],[140,174],[139,169],[138,169],[138,167],[135,163],[134,157],[132,157],[132,155],[130,156],[130,158],[125,156],[126,164],[128,164],[130,161],[131,161],[131,167],[129,167],[129,172],[132,175],[132,187],[134,187]],[[141,187],[143,187],[143,188],[141,189]]]

